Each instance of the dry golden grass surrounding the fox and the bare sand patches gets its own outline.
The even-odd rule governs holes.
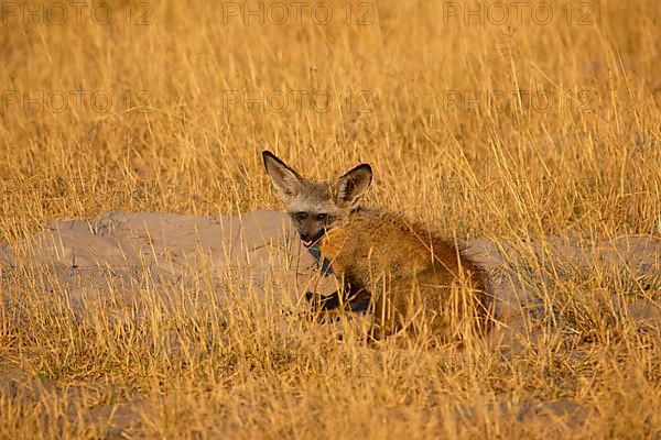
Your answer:
[[[655,0],[266,2],[261,23],[258,2],[55,3],[2,2],[0,242],[107,211],[281,209],[267,147],[318,177],[369,162],[368,202],[442,234],[661,235]],[[658,277],[528,266],[553,319],[508,354],[286,332],[254,301],[79,321],[19,279],[0,437],[659,438],[659,333],[603,300],[659,307]],[[524,417],[539,403],[582,410]]]

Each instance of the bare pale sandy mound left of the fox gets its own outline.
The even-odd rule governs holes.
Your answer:
[[[64,286],[76,309],[108,292],[134,300],[149,289],[167,304],[175,284],[214,294],[250,289],[300,306],[297,293],[332,293],[336,286],[318,276],[296,237],[278,212],[221,219],[112,212],[61,221],[20,245],[4,244],[0,267],[6,282],[29,274],[47,289]]]

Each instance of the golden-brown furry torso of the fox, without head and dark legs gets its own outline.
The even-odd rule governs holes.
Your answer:
[[[411,329],[448,340],[486,330],[488,282],[453,242],[395,216],[359,209],[318,246],[350,290],[371,293],[375,336]]]

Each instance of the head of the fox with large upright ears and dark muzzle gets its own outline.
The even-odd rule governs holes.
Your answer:
[[[351,211],[372,180],[368,164],[358,165],[335,182],[318,183],[301,176],[271,152],[264,151],[262,156],[271,183],[286,204],[306,248],[349,222]]]

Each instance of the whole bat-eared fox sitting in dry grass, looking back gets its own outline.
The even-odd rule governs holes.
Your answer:
[[[271,152],[262,156],[303,245],[328,261],[343,283],[329,297],[308,294],[313,304],[354,310],[367,305],[377,339],[407,330],[440,342],[484,333],[490,316],[485,272],[455,241],[361,207],[372,182],[370,165],[335,182],[314,182]]]

